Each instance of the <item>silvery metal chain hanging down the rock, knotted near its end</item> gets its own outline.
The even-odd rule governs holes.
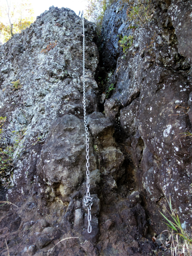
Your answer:
[[[93,204],[93,198],[90,196],[90,184],[89,184],[89,137],[88,137],[88,127],[86,118],[86,101],[85,101],[85,30],[84,30],[84,13],[82,11],[82,24],[83,24],[83,109],[84,109],[84,125],[86,134],[86,176],[87,176],[87,193],[84,199],[85,206],[88,210],[88,233],[91,233],[91,206]]]

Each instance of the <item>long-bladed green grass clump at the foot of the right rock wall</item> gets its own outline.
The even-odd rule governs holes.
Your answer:
[[[166,198],[166,196],[165,196]],[[192,256],[192,237],[189,236],[187,231],[184,229],[182,224],[180,223],[180,219],[177,214],[177,210],[172,208],[171,197],[169,196],[169,201],[166,198],[170,212],[167,210],[168,214],[171,217],[169,220],[162,212],[162,216],[166,219],[164,222],[169,228],[169,232],[171,232],[172,243],[171,243],[171,253],[172,256]],[[168,231],[168,230],[166,230]]]

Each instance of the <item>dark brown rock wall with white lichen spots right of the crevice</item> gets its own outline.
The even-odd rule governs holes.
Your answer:
[[[132,31],[133,45],[126,55],[116,52],[118,39],[114,42],[130,34],[130,30],[120,32],[128,28],[124,8],[116,2],[105,13],[103,64],[107,53],[109,60],[121,56],[114,72],[116,88],[104,109],[116,132],[122,133],[122,152],[134,164],[136,189],[150,218],[150,230],[160,234],[166,228],[159,211],[168,209],[165,196],[170,195],[191,232],[192,137],[184,133],[192,128],[192,3],[157,0],[154,6],[153,20]],[[116,28],[112,33],[111,26]],[[120,110],[115,104],[121,105]]]

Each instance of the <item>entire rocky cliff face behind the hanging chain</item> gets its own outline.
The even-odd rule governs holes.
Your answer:
[[[134,29],[126,10],[118,1],[106,10],[100,52],[96,26],[85,20],[91,234],[82,21],[50,7],[0,46],[0,201],[14,204],[0,206],[2,256],[6,242],[12,256],[152,255],[169,195],[190,229],[192,5],[156,0],[147,26]],[[125,35],[133,35],[126,54],[118,44]],[[112,74],[106,100],[100,72]]]

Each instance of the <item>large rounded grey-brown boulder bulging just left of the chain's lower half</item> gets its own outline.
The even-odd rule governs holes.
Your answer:
[[[84,179],[85,140],[82,120],[74,115],[57,118],[50,127],[38,158],[37,175],[51,187],[57,187],[64,200]],[[96,168],[96,159],[90,146],[90,171]]]

